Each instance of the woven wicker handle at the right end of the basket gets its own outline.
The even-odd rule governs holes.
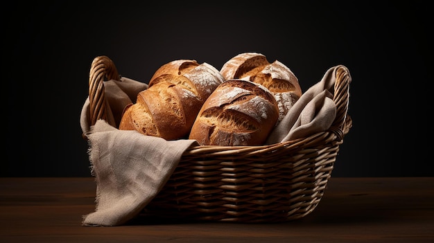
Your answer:
[[[336,69],[336,81],[334,87],[333,101],[336,104],[336,118],[331,127],[338,127],[343,134],[338,134],[340,140],[349,132],[352,126],[351,117],[348,113],[349,105],[349,83],[351,76],[345,66],[338,66]]]

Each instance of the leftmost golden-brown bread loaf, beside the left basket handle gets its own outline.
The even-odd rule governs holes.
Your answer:
[[[168,62],[155,71],[137,102],[125,107],[119,129],[166,140],[187,137],[202,104],[223,81],[206,62]]]

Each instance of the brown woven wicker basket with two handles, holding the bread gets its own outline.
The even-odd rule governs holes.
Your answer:
[[[106,118],[104,80],[119,80],[108,57],[89,75],[91,123]],[[141,215],[214,222],[286,222],[318,206],[349,132],[349,73],[336,71],[336,119],[330,129],[295,141],[261,146],[192,146]]]

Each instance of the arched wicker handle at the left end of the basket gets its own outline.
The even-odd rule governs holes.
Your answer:
[[[89,71],[89,109],[90,122],[95,125],[98,119],[107,119],[105,102],[105,80],[120,80],[114,62],[109,57],[101,55],[95,57]]]

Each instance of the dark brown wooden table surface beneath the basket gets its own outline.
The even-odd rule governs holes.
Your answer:
[[[0,242],[434,242],[434,177],[331,178],[313,213],[275,224],[82,226],[89,178],[0,178]]]

